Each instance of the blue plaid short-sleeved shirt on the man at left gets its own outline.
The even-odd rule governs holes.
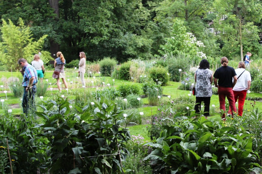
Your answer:
[[[23,78],[22,86],[28,86],[29,79],[31,79],[32,77],[35,77],[33,84],[36,84],[37,83],[36,69],[32,65],[27,64],[26,66],[24,66],[23,70],[24,70],[24,78]]]

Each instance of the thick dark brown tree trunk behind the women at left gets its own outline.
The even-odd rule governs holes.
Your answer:
[[[56,14],[56,20],[59,20],[59,0],[49,0],[51,8],[54,9],[54,14]],[[56,53],[59,51],[59,44],[57,44],[53,39],[50,39],[50,53],[53,58],[56,58]]]

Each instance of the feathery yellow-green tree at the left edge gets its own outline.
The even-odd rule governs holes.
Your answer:
[[[0,46],[0,60],[3,63],[8,63],[9,70],[17,69],[19,65],[17,60],[25,58],[30,60],[33,54],[38,53],[42,49],[44,39],[47,35],[42,36],[39,40],[34,41],[31,37],[31,30],[29,27],[24,26],[24,22],[20,18],[18,26],[15,26],[11,20],[7,23],[2,20],[1,27],[2,43]]]

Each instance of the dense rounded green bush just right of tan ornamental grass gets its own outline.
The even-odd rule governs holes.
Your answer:
[[[150,77],[157,84],[161,83],[162,86],[166,86],[167,82],[169,81],[167,70],[163,67],[153,67],[150,70]]]

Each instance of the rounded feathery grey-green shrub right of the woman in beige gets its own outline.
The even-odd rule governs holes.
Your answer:
[[[115,59],[110,59],[109,57],[104,58],[99,62],[100,73],[104,76],[111,76],[112,69],[116,64]]]

